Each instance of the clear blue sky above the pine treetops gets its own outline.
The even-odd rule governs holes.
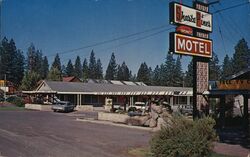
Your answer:
[[[2,34],[13,38],[17,48],[25,54],[31,43],[51,62],[59,53],[62,64],[69,59],[74,62],[77,55],[83,61],[94,49],[100,58],[104,72],[114,52],[117,63],[126,62],[137,73],[142,62],[153,69],[165,61],[169,47],[169,32],[161,32],[144,40],[155,30],[123,40],[93,46],[78,51],[67,50],[92,45],[151,28],[169,25],[169,2],[171,0],[4,0],[2,7]],[[179,2],[179,0],[176,0]],[[210,8],[211,12],[227,8],[248,0],[220,0]],[[191,6],[192,0],[182,0]],[[213,15],[213,50],[220,61],[226,54],[232,56],[234,46],[244,37],[250,46],[250,5],[230,9]],[[222,32],[222,38],[219,33]],[[223,45],[224,41],[224,45]],[[191,57],[183,56],[186,70]]]

